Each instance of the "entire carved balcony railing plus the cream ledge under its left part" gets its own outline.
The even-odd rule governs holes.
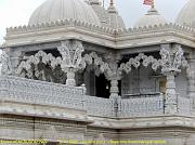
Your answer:
[[[88,117],[126,119],[165,114],[162,93],[129,98],[102,98],[84,94],[83,87],[68,87],[13,76],[0,77],[1,114],[90,121]],[[177,115],[192,116],[193,101],[177,96]],[[66,111],[67,110],[67,111]]]

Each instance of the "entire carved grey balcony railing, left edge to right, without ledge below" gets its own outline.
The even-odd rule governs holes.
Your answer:
[[[0,77],[0,101],[50,105],[86,110],[89,116],[131,118],[165,115],[164,95],[134,98],[102,98],[88,96],[83,88],[29,80],[20,77]],[[191,115],[191,101],[178,96],[178,114]]]

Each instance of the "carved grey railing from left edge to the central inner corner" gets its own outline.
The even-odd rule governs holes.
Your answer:
[[[87,110],[90,116],[112,117],[113,102],[88,96],[80,87],[29,80],[13,76],[0,77],[0,101],[51,105]]]

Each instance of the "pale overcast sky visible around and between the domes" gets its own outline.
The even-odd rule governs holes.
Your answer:
[[[26,25],[34,10],[44,0],[0,0],[0,44],[5,28]],[[109,0],[105,0],[109,1]],[[115,0],[117,9],[123,17],[127,27],[132,27],[138,18],[150,9],[143,5],[143,0]],[[157,10],[169,22],[173,22],[187,0],[156,0]]]

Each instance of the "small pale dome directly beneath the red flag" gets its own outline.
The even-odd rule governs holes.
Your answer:
[[[143,17],[141,17],[134,25],[134,27],[154,26],[159,24],[166,24],[167,21],[158,13],[158,11],[152,8],[147,11]]]

